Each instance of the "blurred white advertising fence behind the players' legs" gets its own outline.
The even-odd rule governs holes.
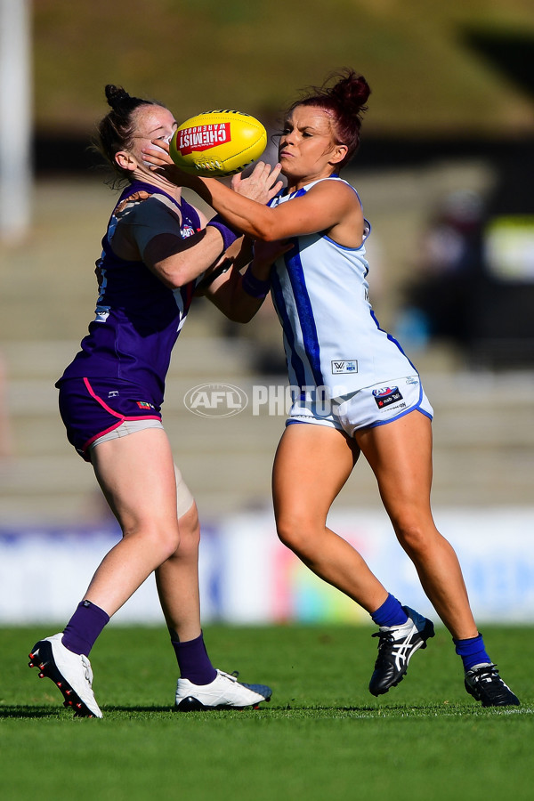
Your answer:
[[[477,621],[534,619],[534,507],[441,509],[434,517],[460,558]],[[384,514],[340,510],[331,514],[329,525],[357,547],[401,603],[436,618]],[[116,529],[0,529],[0,625],[64,624],[117,538]],[[204,526],[200,584],[205,623],[368,621],[366,612],[279,543],[270,513]],[[163,623],[153,578],[115,620]]]

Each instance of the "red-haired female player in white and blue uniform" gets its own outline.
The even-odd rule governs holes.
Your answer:
[[[328,83],[287,110],[279,138],[287,189],[269,206],[174,166],[164,166],[164,173],[198,192],[231,226],[267,243],[256,244],[255,276],[262,278],[248,281],[247,290],[261,297],[271,289],[290,383],[299,387],[273,468],[279,538],[378,626],[370,692],[380,695],[401,681],[413,653],[433,636],[433,624],[401,605],[360,554],[328,529],[328,510],[360,452],[401,546],[453,637],[465,689],[483,706],[517,705],[477,630],[457,555],[433,522],[433,410],[416,368],[379,327],[368,301],[370,226],[358,194],[339,172],[358,148],[370,90],[350,69]],[[164,165],[165,157],[151,155],[154,165]],[[270,274],[270,248],[279,240],[288,249]]]

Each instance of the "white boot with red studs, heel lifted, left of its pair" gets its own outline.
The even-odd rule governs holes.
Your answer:
[[[53,680],[65,699],[63,706],[71,707],[75,716],[101,717],[93,693],[91,662],[83,654],[65,648],[62,639],[60,633],[39,640],[29,654],[29,667],[38,667],[40,678]]]

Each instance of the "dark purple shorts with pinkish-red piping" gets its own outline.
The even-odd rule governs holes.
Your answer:
[[[66,378],[58,384],[67,439],[86,462],[95,440],[125,420],[159,420],[160,407],[142,389],[115,378]]]

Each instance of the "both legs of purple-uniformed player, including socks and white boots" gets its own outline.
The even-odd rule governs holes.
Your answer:
[[[165,432],[150,429],[101,442],[93,450],[93,466],[124,537],[102,560],[63,634],[36,643],[30,667],[38,665],[41,675],[50,676],[77,714],[101,717],[86,654],[109,617],[156,570],[181,667],[177,708],[257,707],[269,700],[269,687],[241,684],[215,670],[207,656],[200,629],[197,508],[191,498],[178,521],[174,463]],[[66,637],[73,635],[76,645],[86,642],[84,651],[70,650]]]

